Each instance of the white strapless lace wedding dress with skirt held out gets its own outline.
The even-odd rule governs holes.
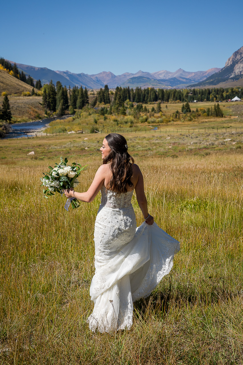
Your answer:
[[[95,275],[90,285],[95,306],[92,331],[130,329],[132,302],[150,295],[173,266],[180,243],[154,223],[136,228],[133,191],[117,195],[101,188],[95,222]]]

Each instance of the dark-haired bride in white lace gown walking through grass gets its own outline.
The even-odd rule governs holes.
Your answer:
[[[148,214],[143,175],[127,152],[126,139],[108,134],[100,148],[99,167],[88,191],[65,190],[67,198],[90,203],[101,191],[95,222],[95,275],[90,285],[94,309],[87,322],[92,331],[130,329],[132,303],[150,295],[173,266],[180,244],[154,223]],[[131,205],[133,192],[144,222],[136,227]]]

